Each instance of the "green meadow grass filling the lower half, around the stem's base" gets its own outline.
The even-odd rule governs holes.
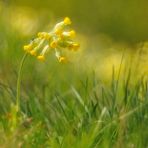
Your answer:
[[[1,147],[148,146],[148,83],[144,78],[131,83],[131,74],[116,79],[114,72],[108,84],[94,73],[77,78],[66,85],[53,77],[46,85],[39,82],[26,90],[22,82],[19,116],[11,105],[16,88],[1,84]]]

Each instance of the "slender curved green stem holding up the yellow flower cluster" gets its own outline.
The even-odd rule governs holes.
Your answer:
[[[18,71],[18,78],[17,78],[17,88],[16,88],[16,108],[17,112],[20,110],[20,85],[21,85],[21,77],[22,77],[22,69],[27,57],[28,53],[26,52],[21,60],[19,71]]]

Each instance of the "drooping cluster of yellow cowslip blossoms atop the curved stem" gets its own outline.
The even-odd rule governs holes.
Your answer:
[[[79,44],[73,41],[75,31],[67,31],[70,24],[71,20],[66,17],[62,22],[57,23],[50,32],[39,32],[37,38],[24,46],[24,50],[36,56],[38,60],[44,61],[46,53],[53,49],[59,62],[64,62],[66,57],[62,56],[63,49],[76,51],[79,48]]]

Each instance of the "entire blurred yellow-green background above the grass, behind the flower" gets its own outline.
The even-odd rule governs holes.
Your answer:
[[[148,63],[147,7],[147,0],[1,0],[0,79],[14,81],[12,77],[16,77],[23,45],[37,32],[50,30],[65,16],[72,19],[72,28],[81,44],[79,52],[72,55],[74,68],[81,69],[81,73],[82,70],[94,70],[98,76],[108,79],[113,67],[119,70],[123,57],[122,64],[125,63],[126,69],[134,66],[134,73],[145,74]],[[45,75],[47,65],[32,58],[27,62],[24,72],[28,78],[42,71]],[[52,57],[48,64],[52,77],[53,73],[58,73],[59,65]]]

